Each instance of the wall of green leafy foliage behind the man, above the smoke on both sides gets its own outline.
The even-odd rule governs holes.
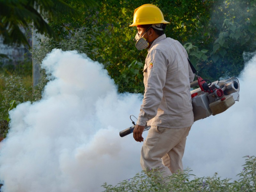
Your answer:
[[[132,23],[134,9],[142,4],[155,4],[162,10],[165,20],[171,23],[166,26],[166,36],[184,45],[191,62],[204,78],[215,81],[224,75],[237,76],[244,67],[242,53],[256,49],[255,1],[96,2],[98,7],[88,9],[87,12],[83,6],[73,3],[80,13],[78,20],[59,12],[61,22],[49,19],[49,25],[63,41],[78,35],[77,29],[86,28],[91,39],[81,36],[81,41],[74,42],[77,45],[70,45],[70,48],[76,48],[88,54],[92,60],[103,63],[118,85],[119,92],[144,90],[143,68],[134,65],[134,62],[143,63],[147,51],[138,51],[134,47],[132,40],[137,31],[135,27],[128,27]],[[78,44],[86,46],[77,48]]]

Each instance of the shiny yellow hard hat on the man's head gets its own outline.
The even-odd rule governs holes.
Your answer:
[[[133,23],[129,27],[157,23],[170,22],[164,20],[163,13],[156,5],[144,4],[134,10]]]

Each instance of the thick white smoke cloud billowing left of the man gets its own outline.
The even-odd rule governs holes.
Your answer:
[[[2,190],[102,191],[139,172],[141,144],[119,131],[132,126],[142,95],[117,93],[103,66],[76,51],[53,50],[42,67],[54,78],[42,100],[10,112]]]

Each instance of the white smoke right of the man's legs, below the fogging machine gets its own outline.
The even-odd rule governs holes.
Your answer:
[[[196,121],[191,128],[183,162],[197,177],[217,172],[222,179],[237,180],[243,157],[256,155],[256,56],[245,63],[238,80],[239,102],[221,114]]]

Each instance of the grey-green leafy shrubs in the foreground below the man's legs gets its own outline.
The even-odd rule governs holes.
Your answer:
[[[238,174],[240,179],[231,182],[230,179],[221,179],[215,173],[213,177],[197,178],[189,174],[191,170],[173,174],[169,182],[164,182],[161,173],[156,170],[142,171],[133,178],[119,182],[116,186],[104,183],[105,192],[148,192],[148,191],[211,191],[211,192],[252,192],[256,190],[256,157],[246,156],[243,171]],[[191,179],[191,176],[195,176]]]

